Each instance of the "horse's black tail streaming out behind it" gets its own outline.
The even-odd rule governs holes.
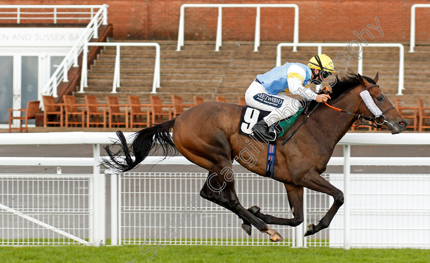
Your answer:
[[[127,146],[122,131],[117,131],[116,134],[119,138],[113,145],[105,146],[109,158],[102,158],[102,165],[110,168],[115,172],[122,173],[135,168],[141,161],[148,155],[151,149],[154,151],[159,149],[163,150],[163,156],[174,156],[178,154],[178,150],[173,143],[173,138],[169,134],[169,129],[175,125],[175,119],[153,127],[145,128],[136,132],[132,145]],[[116,153],[111,151],[111,147],[119,146],[120,150]],[[120,156],[125,156],[121,158]],[[133,160],[132,156],[135,156]]]

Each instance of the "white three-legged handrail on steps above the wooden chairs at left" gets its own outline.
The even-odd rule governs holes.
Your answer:
[[[84,44],[82,61],[87,60],[88,46],[116,46],[117,54],[115,56],[114,81],[112,84],[112,93],[116,93],[116,88],[120,86],[120,46],[155,46],[155,67],[153,90],[151,93],[157,93],[160,87],[160,45],[158,43],[138,43],[138,42],[89,42]],[[88,87],[88,67],[87,63],[82,64],[82,74],[79,92],[84,92],[83,88]]]

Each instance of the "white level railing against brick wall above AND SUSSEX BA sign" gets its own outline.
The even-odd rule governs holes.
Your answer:
[[[0,20],[16,20],[16,23],[21,23],[22,20],[53,20],[54,23],[57,23],[58,20],[91,20],[95,14],[94,10],[102,7],[102,5],[0,5],[0,10],[14,10],[0,11]],[[28,9],[36,10],[33,12],[23,11]],[[43,10],[40,11],[39,9]],[[71,11],[71,9],[79,10]],[[82,9],[89,10],[82,11]]]

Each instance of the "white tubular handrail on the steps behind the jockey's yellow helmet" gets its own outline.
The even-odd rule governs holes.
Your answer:
[[[283,46],[317,46],[318,54],[322,53],[322,46],[330,47],[347,47],[350,43],[279,43],[276,46],[276,66],[281,65],[281,47]],[[365,47],[398,47],[399,48],[399,82],[397,87],[397,95],[403,95],[402,90],[404,89],[404,47],[400,43],[368,43]],[[363,73],[363,46],[357,54],[360,59],[358,59],[358,69],[357,73]]]

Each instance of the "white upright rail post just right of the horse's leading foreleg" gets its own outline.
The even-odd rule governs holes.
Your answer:
[[[350,249],[350,175],[351,175],[351,146],[343,146],[343,248]]]

